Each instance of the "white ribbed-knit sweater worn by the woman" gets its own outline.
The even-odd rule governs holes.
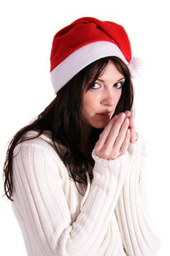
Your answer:
[[[156,255],[158,238],[143,197],[141,139],[117,159],[93,152],[93,181],[87,174],[88,187],[77,184],[84,196],[52,144],[45,132],[14,151],[12,208],[28,255]]]

